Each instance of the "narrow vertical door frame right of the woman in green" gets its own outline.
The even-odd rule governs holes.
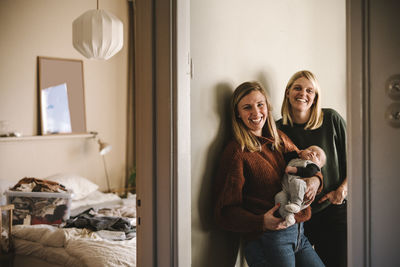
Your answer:
[[[368,0],[347,0],[348,266],[371,265]]]

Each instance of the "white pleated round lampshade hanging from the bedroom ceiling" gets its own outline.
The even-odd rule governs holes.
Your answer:
[[[123,46],[123,24],[113,14],[89,10],[72,23],[72,42],[89,59],[109,59]]]

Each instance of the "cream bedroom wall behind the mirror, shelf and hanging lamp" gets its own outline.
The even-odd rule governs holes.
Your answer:
[[[112,187],[125,177],[127,25],[126,0],[102,0],[124,23],[124,47],[108,61],[88,60],[72,46],[72,21],[94,0],[0,1],[0,120],[23,135],[38,132],[37,56],[82,59],[88,131],[113,146],[106,155]],[[0,179],[45,177],[58,171],[87,176],[105,189],[104,170],[93,139],[0,142]]]

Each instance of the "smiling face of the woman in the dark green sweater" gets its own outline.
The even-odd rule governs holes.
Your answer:
[[[292,107],[293,113],[308,113],[314,103],[316,89],[313,83],[305,77],[300,77],[294,81],[287,90],[286,97]]]

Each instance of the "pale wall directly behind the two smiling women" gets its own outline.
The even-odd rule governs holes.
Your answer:
[[[345,0],[192,0],[192,264],[229,266],[235,237],[216,229],[212,181],[234,88],[258,80],[280,118],[290,76],[313,71],[322,105],[346,117]]]

